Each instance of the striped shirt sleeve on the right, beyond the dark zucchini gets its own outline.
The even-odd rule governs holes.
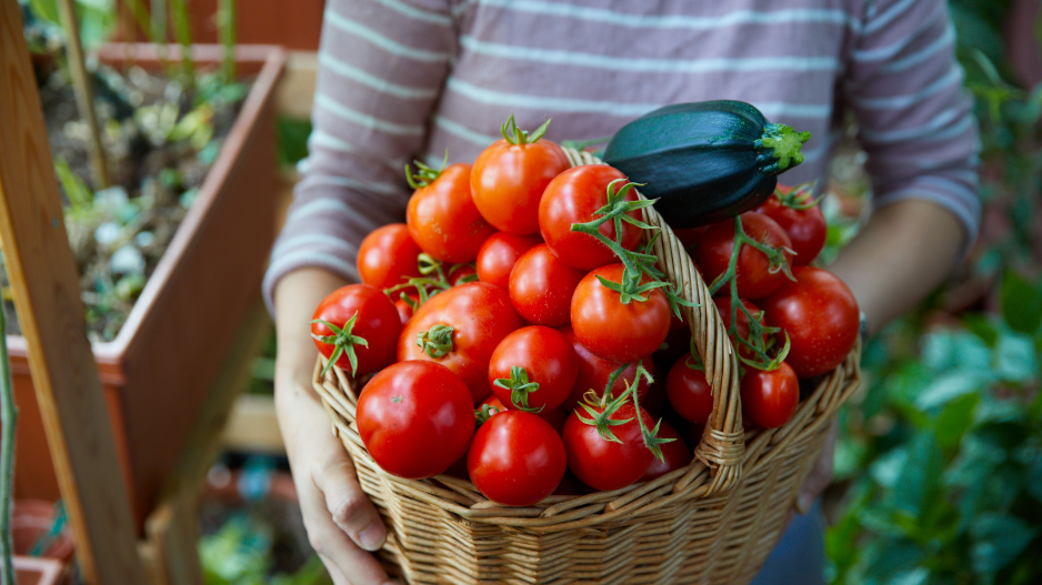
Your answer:
[[[849,56],[843,97],[868,154],[873,205],[926,199],[976,239],[979,138],[942,0],[869,0]]]

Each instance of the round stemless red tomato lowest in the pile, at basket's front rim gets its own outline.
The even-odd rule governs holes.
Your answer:
[[[507,411],[478,428],[467,471],[489,500],[530,506],[553,493],[567,461],[564,443],[550,423],[530,412]]]

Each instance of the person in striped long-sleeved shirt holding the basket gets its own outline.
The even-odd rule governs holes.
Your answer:
[[[828,269],[870,333],[924,299],[976,236],[976,130],[940,0],[330,0],[319,63],[310,154],[264,295],[279,424],[310,541],[338,584],[389,581],[371,554],[387,532],[311,387],[307,325],[359,280],[362,239],[403,221],[405,164],[473,161],[507,113],[527,129],[552,119],[553,140],[587,140],[662,105],[728,99],[810,131],[785,176],[795,184],[826,175],[853,120],[872,212]],[[831,481],[831,456],[830,444],[801,513]],[[821,583],[819,523],[793,525],[796,541],[819,544],[788,577]],[[768,568],[757,583],[784,577]]]

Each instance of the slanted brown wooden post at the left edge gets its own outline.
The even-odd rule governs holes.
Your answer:
[[[18,0],[0,0],[0,243],[81,575],[143,583]]]

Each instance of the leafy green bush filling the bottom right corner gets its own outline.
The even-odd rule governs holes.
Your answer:
[[[1042,280],[1010,272],[1000,294],[999,315],[903,322],[866,347],[836,453],[854,483],[826,537],[834,583],[1042,576]]]

